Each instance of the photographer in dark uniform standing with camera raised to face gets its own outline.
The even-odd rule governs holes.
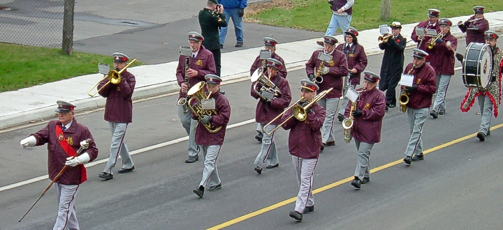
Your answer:
[[[213,54],[218,76],[221,69],[219,28],[227,26],[226,15],[223,12],[224,6],[219,5],[217,0],[208,0],[206,7],[199,11],[198,15],[201,34],[205,38],[203,45]]]

